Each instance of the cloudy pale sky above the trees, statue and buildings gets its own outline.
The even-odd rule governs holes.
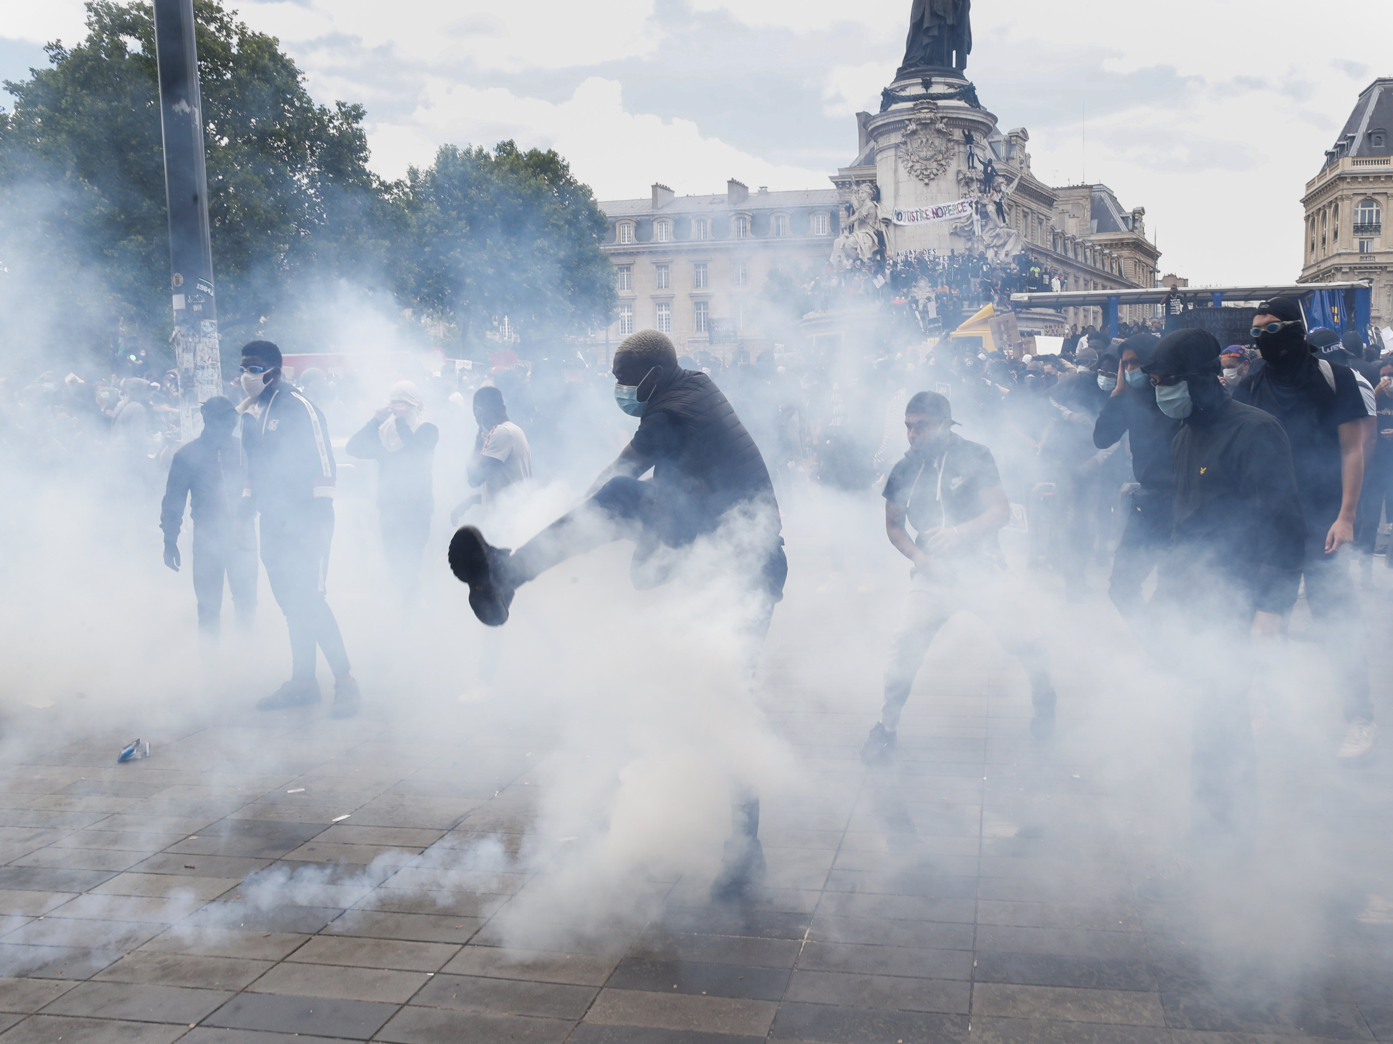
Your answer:
[[[904,50],[910,0],[247,0],[322,102],[368,110],[373,166],[440,143],[552,146],[602,199],[826,187]],[[1393,3],[976,0],[968,75],[1036,177],[1145,206],[1194,283],[1293,280],[1305,181],[1358,93],[1393,75]],[[0,0],[0,78],[84,33],[75,0]],[[0,103],[8,96],[0,93]],[[1085,132],[1087,128],[1087,132]],[[1393,129],[1393,128],[1390,128]]]

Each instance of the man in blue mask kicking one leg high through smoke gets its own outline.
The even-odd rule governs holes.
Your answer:
[[[754,603],[745,635],[754,661],[788,572],[779,504],[759,448],[710,377],[677,365],[666,334],[641,330],[624,338],[613,373],[616,405],[639,425],[585,503],[515,551],[493,547],[475,526],[464,526],[450,541],[450,568],[469,585],[474,614],[500,626],[517,589],[567,558],[634,540],[631,576],[635,586],[652,587],[670,575],[684,548],[738,512],[749,550],[731,554],[729,568]],[[653,480],[639,482],[649,469]],[[765,870],[758,799],[740,802],[736,820],[712,889],[717,899],[745,894]]]

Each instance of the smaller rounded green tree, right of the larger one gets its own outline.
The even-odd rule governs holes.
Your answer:
[[[478,345],[504,316],[525,345],[582,334],[614,309],[605,213],[556,152],[443,146],[401,192],[403,302]]]

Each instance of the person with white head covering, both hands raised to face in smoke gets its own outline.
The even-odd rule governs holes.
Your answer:
[[[421,560],[435,511],[430,465],[439,440],[440,429],[425,419],[421,391],[410,380],[398,380],[387,393],[387,405],[347,445],[350,457],[378,462],[382,548],[407,610],[421,600]]]

